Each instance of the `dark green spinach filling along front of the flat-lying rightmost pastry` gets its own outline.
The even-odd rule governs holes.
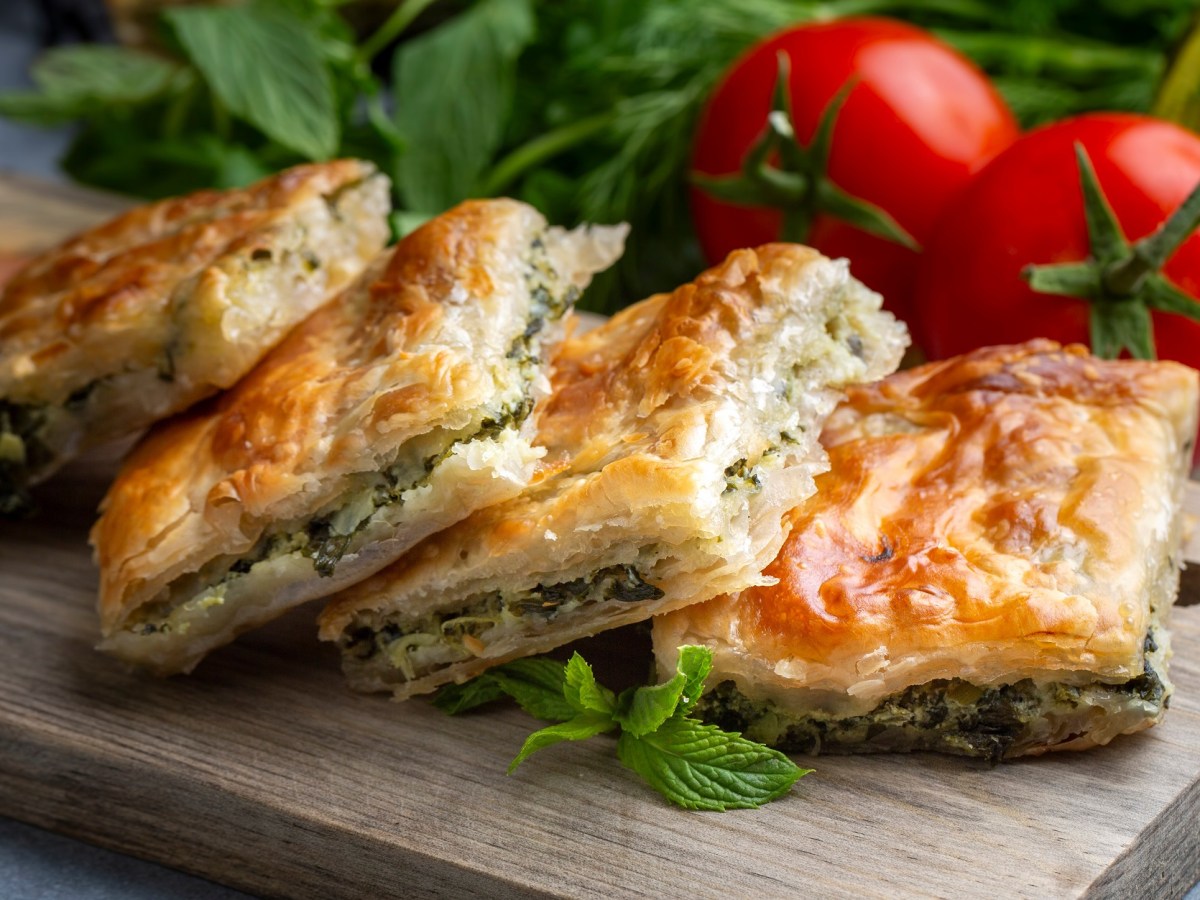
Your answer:
[[[1037,722],[1069,720],[1088,708],[1105,708],[1105,695],[1121,704],[1139,703],[1147,713],[1165,707],[1166,686],[1150,660],[1158,649],[1146,635],[1144,671],[1122,684],[1014,684],[979,688],[961,679],[913,685],[880,701],[863,715],[836,718],[791,713],[769,700],[746,697],[731,680],[707,691],[697,715],[726,731],[788,752],[874,752],[934,750],[982,756],[1000,762],[1013,751],[1038,743]],[[1063,739],[1079,737],[1070,734]]]

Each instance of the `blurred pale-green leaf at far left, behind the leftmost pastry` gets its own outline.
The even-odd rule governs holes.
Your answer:
[[[30,77],[38,90],[0,95],[0,115],[55,125],[97,108],[136,106],[166,96],[186,86],[192,73],[144,50],[72,44],[38,56]]]

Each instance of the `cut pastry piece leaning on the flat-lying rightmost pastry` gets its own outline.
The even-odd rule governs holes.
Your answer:
[[[354,688],[404,697],[758,583],[839,389],[906,343],[845,260],[738,251],[568,340],[541,479],[342,592],[320,636]]]

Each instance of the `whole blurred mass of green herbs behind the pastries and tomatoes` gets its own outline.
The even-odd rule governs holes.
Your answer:
[[[391,175],[400,233],[496,194],[563,224],[626,221],[625,258],[586,299],[612,311],[702,268],[686,187],[696,120],[770,31],[910,19],[979,62],[1033,125],[1148,110],[1195,13],[1194,0],[400,0],[360,37],[343,6],[167,8],[158,49],[53,49],[37,90],[0,96],[0,114],[78,122],[66,172],[139,197],[358,156]]]

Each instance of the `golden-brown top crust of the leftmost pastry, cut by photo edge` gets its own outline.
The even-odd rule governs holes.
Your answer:
[[[281,229],[306,208],[332,203],[340,191],[373,176],[373,167],[355,160],[300,166],[245,190],[139,206],[34,259],[0,294],[0,396],[60,404],[97,378],[140,366],[202,382],[205,372],[172,371],[186,360],[166,359],[168,343],[180,337],[172,329],[184,312],[178,307],[244,277],[256,254],[282,251]],[[326,295],[326,281],[328,292],[344,287],[383,246],[385,210],[364,212],[356,223],[362,246],[325,260],[330,274],[320,278],[318,299]],[[274,304],[282,325],[316,305],[288,296],[260,300]],[[217,366],[205,386],[228,386],[242,371]]]

